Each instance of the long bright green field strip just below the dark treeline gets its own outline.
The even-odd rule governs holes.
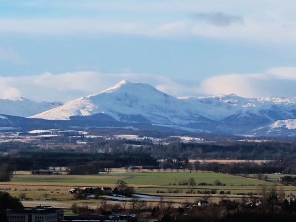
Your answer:
[[[93,184],[93,185],[115,185],[119,179],[125,180],[129,185],[178,185],[180,181],[187,181],[194,178],[196,183],[213,184],[219,180],[227,186],[237,185],[260,185],[263,181],[256,179],[243,178],[222,173],[111,173],[86,176],[72,175],[15,175],[11,183],[48,183],[61,185],[71,184]],[[268,184],[268,183],[267,183]]]

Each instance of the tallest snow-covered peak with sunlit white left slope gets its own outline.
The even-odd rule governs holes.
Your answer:
[[[132,115],[144,117],[151,123],[187,124],[199,118],[190,106],[149,84],[123,80],[99,94],[81,97],[31,117],[67,120],[70,116],[105,113],[118,121],[125,121],[125,116]]]

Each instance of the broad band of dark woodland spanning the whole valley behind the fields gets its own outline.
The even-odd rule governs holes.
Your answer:
[[[80,138],[78,138],[80,139]],[[91,139],[86,145],[65,148],[62,141],[72,139],[53,137],[52,148],[40,148],[30,143],[1,144],[0,163],[9,164],[14,170],[36,170],[48,167],[67,167],[72,174],[93,174],[111,168],[146,166],[153,170],[214,171],[231,174],[296,173],[296,143],[283,142],[220,142],[182,143],[168,137],[168,143],[152,143],[124,139]],[[75,144],[75,141],[71,143]],[[99,150],[99,151],[98,151]],[[158,162],[158,159],[164,159]],[[189,159],[196,159],[189,163]],[[203,159],[266,159],[269,162],[206,163]]]

